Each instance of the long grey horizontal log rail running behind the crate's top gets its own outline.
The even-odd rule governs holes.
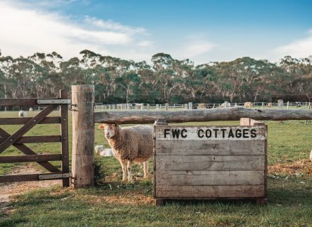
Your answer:
[[[303,109],[245,109],[243,107],[197,109],[185,111],[108,111],[94,113],[97,123],[154,123],[165,118],[168,123],[191,121],[259,121],[311,120],[312,111]]]

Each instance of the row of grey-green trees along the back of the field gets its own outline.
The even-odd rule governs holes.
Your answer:
[[[311,101],[312,56],[194,65],[165,53],[147,64],[90,50],[67,61],[57,52],[17,58],[0,52],[0,98],[55,97],[73,84],[94,84],[95,101],[104,104]]]

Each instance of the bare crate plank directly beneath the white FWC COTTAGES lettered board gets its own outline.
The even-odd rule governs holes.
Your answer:
[[[264,140],[156,140],[156,155],[264,155]]]

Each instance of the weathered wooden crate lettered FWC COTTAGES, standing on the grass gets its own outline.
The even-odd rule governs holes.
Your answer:
[[[179,135],[179,136],[178,136]],[[267,187],[267,126],[154,125],[154,197],[256,199]]]

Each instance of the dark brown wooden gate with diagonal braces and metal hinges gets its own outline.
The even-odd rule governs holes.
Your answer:
[[[25,155],[0,156],[0,163],[37,162],[50,173],[29,175],[0,176],[1,182],[26,182],[48,179],[62,179],[62,186],[69,187],[69,143],[68,143],[68,104],[67,91],[61,90],[57,99],[0,99],[0,106],[45,106],[34,117],[0,118],[1,125],[22,125],[15,133],[10,135],[0,127],[0,154],[10,145],[21,150]],[[60,106],[60,116],[48,117],[53,110]],[[37,124],[60,123],[60,135],[23,136]],[[61,154],[37,154],[24,143],[61,143]],[[49,161],[62,161],[62,170]]]

